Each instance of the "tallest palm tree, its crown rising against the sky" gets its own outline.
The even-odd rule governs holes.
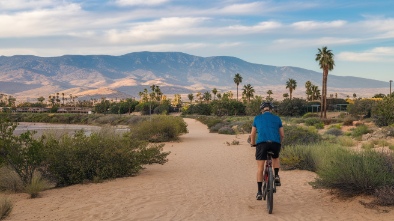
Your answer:
[[[321,118],[327,118],[327,77],[328,72],[334,69],[334,54],[327,46],[318,48],[315,61],[319,62],[320,69],[323,70],[323,85],[322,85],[322,99],[321,99]]]

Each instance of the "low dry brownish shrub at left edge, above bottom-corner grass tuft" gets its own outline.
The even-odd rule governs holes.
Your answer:
[[[0,190],[20,192],[23,190],[23,183],[18,174],[6,167],[0,167]]]

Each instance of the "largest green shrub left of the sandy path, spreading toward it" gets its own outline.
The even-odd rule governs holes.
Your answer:
[[[48,135],[45,140],[46,167],[42,172],[56,186],[132,176],[145,164],[164,164],[169,153],[162,152],[162,147],[149,146],[129,134],[120,136],[109,130],[90,136],[77,131],[62,139]]]

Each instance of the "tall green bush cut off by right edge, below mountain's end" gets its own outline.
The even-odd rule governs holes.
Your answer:
[[[372,109],[372,117],[377,126],[394,124],[394,97],[383,98]]]

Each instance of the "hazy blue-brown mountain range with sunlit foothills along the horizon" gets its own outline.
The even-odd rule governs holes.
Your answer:
[[[317,64],[316,64],[317,65]],[[297,81],[294,95],[305,96],[304,84],[311,81],[321,88],[322,73],[290,66],[254,64],[236,57],[199,57],[181,52],[134,52],[121,56],[32,55],[0,56],[0,93],[21,99],[45,98],[55,93],[80,98],[138,97],[138,92],[158,85],[164,94],[236,91],[234,75],[243,85],[251,84],[256,94],[272,90],[282,97],[286,81]],[[387,82],[359,77],[329,75],[328,94],[338,97],[371,96],[384,92]]]

